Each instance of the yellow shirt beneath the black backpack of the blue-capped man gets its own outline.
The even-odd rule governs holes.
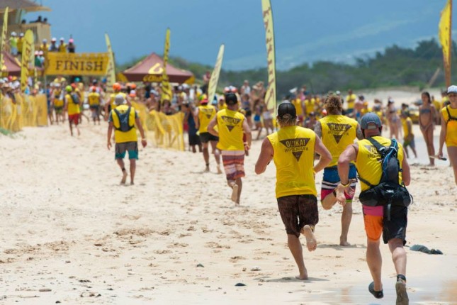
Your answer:
[[[380,145],[383,145],[385,147],[389,147],[390,145],[390,140],[388,138],[376,136],[373,137],[374,140],[378,141]],[[380,164],[380,154],[378,153],[378,150],[371,144],[369,140],[363,139],[359,140],[359,153],[357,153],[357,159],[356,159],[356,167],[357,167],[357,172],[359,172],[360,177],[362,179],[365,179],[366,181],[370,182],[373,185],[379,184],[380,178],[383,174],[383,169]],[[403,148],[400,143],[398,143],[398,162],[400,162],[400,169],[402,168],[402,162],[403,162]],[[400,171],[400,175],[398,177],[399,183],[402,183],[402,172]],[[360,182],[361,184],[361,190],[365,191],[366,189],[369,189],[370,187],[363,183],[362,181]]]

